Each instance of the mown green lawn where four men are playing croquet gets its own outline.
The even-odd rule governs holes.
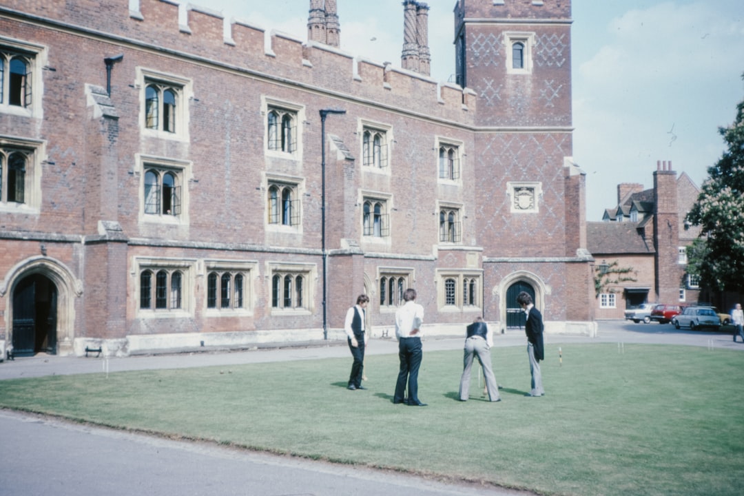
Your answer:
[[[426,352],[419,396],[392,405],[396,355],[0,381],[0,407],[208,439],[336,463],[482,481],[548,495],[744,494],[744,353],[612,344],[547,347],[546,396],[525,398],[524,348],[493,350],[502,402],[462,352]]]

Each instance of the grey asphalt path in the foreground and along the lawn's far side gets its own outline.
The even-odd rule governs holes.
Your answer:
[[[600,322],[596,338],[546,335],[547,344],[582,342],[684,344],[744,350],[730,332],[691,332],[669,324]],[[728,331],[728,329],[725,329]],[[496,347],[524,346],[522,332],[497,335]],[[462,338],[429,339],[425,350],[461,349]],[[396,353],[392,340],[373,340],[371,354]],[[146,357],[69,358],[37,355],[0,364],[0,379],[119,370],[203,367],[346,357],[345,344]],[[0,496],[81,495],[525,495],[450,484],[390,471],[339,466],[79,425],[0,410]]]

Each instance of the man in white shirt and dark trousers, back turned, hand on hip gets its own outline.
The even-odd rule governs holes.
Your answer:
[[[423,306],[416,303],[416,290],[408,288],[403,293],[405,304],[395,312],[395,336],[398,338],[398,358],[400,372],[395,384],[393,403],[415,407],[425,407],[418,399],[418,371],[421,366],[421,324],[423,323]],[[405,383],[408,381],[408,397],[405,395]]]

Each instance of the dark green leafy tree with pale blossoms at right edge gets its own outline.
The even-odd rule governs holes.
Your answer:
[[[743,75],[744,79],[744,75]],[[705,248],[697,246],[692,266],[700,280],[716,291],[744,290],[744,101],[737,105],[737,117],[719,128],[728,149],[715,165],[708,167],[697,202],[687,220],[701,226]]]

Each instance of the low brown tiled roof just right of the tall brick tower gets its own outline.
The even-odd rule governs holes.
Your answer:
[[[592,255],[654,253],[637,222],[587,222],[586,248]]]

